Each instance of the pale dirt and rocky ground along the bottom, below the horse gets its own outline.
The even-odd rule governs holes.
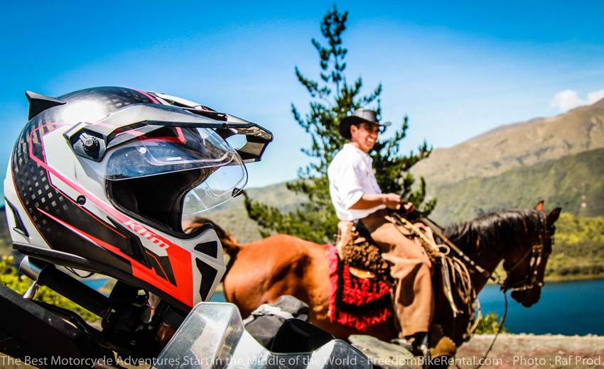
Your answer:
[[[604,336],[502,334],[485,360],[493,335],[477,335],[459,350],[453,364],[460,368],[604,368]],[[381,368],[421,368],[419,360],[399,346],[369,336],[350,341]],[[454,367],[454,365],[451,365]]]

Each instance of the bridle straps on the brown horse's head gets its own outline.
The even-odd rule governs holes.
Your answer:
[[[524,253],[522,258],[520,258],[520,260],[518,260],[516,263],[514,263],[514,265],[512,265],[512,268],[506,270],[507,277],[505,278],[505,281],[499,283],[502,291],[525,291],[531,290],[535,287],[543,287],[544,282],[543,280],[539,280],[538,277],[539,267],[541,266],[541,263],[546,260],[546,257],[551,253],[551,247],[554,246],[554,238],[549,237],[549,230],[547,229],[546,223],[547,222],[545,214],[539,212],[538,243],[534,244],[531,248],[529,248],[529,250]],[[545,250],[545,243],[548,238],[551,243],[548,250]],[[529,270],[527,271],[526,275],[524,275],[524,279],[512,282],[510,280],[512,272],[516,270],[520,265],[522,265],[524,260],[529,257]]]

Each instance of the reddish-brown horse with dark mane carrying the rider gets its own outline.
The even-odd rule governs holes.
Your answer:
[[[512,297],[525,307],[539,300],[547,258],[551,253],[554,222],[560,208],[549,214],[540,202],[536,209],[509,210],[480,216],[473,221],[451,226],[445,236],[460,247],[478,265],[492,273],[503,260],[507,285],[517,287]],[[204,222],[199,220],[198,222]],[[398,331],[390,314],[388,321],[367,331],[333,323],[328,315],[330,279],[325,246],[288,235],[276,235],[241,245],[216,227],[230,262],[225,275],[227,301],[237,304],[242,316],[249,315],[260,304],[275,302],[291,294],[311,307],[311,322],[338,338],[350,334],[369,334],[383,341],[396,338]],[[534,246],[540,245],[540,263],[532,263]],[[534,260],[533,260],[534,261]],[[487,277],[468,266],[476,293],[487,283]],[[438,275],[438,273],[435,273]],[[435,286],[438,285],[435,283]],[[453,323],[451,308],[442,291],[437,291],[434,323],[457,345],[463,342],[466,321]],[[468,317],[466,316],[466,319]]]

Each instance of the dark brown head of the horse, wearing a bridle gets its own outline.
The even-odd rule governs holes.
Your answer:
[[[524,307],[531,307],[541,297],[545,268],[554,244],[554,223],[560,211],[557,207],[546,214],[544,202],[540,201],[522,219],[524,235],[517,238],[516,247],[507,248],[503,264],[507,278],[502,288],[511,290],[512,298]]]

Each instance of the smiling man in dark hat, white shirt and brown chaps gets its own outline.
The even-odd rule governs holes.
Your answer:
[[[431,262],[421,241],[405,237],[397,225],[385,218],[387,209],[409,213],[414,211],[414,205],[401,204],[398,194],[382,194],[368,155],[379,133],[389,125],[390,122],[380,123],[377,112],[370,109],[357,109],[340,121],[340,134],[350,142],[329,165],[330,197],[340,221],[361,221],[382,251],[382,258],[392,263],[390,274],[396,281],[394,307],[401,326],[399,338],[411,342],[414,351],[422,352],[428,343],[433,316]]]

